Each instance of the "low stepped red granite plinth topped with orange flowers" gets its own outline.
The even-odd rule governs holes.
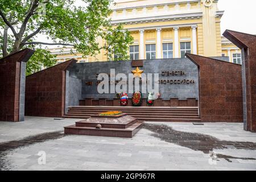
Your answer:
[[[96,126],[100,125],[101,129]],[[142,121],[127,114],[114,116],[91,115],[90,118],[64,127],[65,134],[93,135],[101,137],[132,138],[143,125]]]

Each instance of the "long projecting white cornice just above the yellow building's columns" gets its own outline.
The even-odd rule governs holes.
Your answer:
[[[129,18],[112,20],[112,24],[117,25],[119,23],[125,24],[138,24],[149,22],[166,22],[170,20],[182,20],[182,19],[200,19],[203,17],[203,13],[187,13],[187,14],[175,14],[175,15],[162,15],[162,16],[148,16],[143,18]]]

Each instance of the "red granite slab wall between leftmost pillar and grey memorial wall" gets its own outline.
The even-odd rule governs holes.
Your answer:
[[[62,117],[65,114],[67,69],[76,61],[65,61],[26,77],[26,115]]]

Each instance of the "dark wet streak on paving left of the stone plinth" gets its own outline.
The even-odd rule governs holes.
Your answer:
[[[8,161],[6,161],[6,155],[10,154],[11,151],[27,147],[32,144],[46,142],[47,140],[54,140],[64,137],[63,131],[54,131],[38,135],[33,135],[20,140],[13,140],[9,142],[0,143],[0,171],[10,169]]]

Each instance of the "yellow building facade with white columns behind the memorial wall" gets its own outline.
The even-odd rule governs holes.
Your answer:
[[[241,51],[221,37],[221,16],[217,0],[119,0],[113,5],[112,25],[122,23],[134,38],[131,60],[184,57],[185,53],[202,56],[229,56],[241,63]],[[104,40],[98,40],[104,44]],[[107,52],[82,56],[66,48],[50,49],[59,63],[75,58],[80,62],[107,61]]]

